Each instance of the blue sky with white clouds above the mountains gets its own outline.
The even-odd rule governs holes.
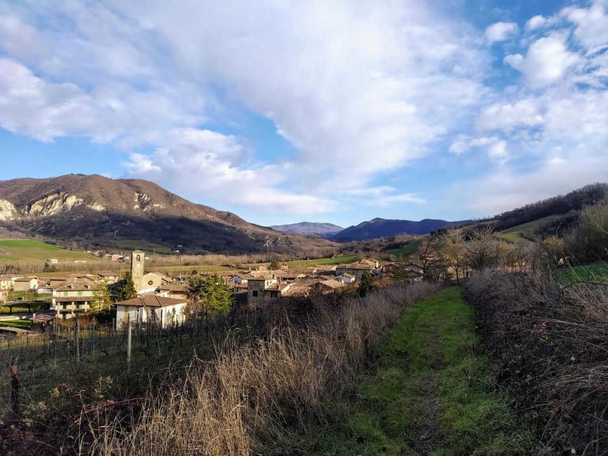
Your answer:
[[[0,179],[482,217],[606,181],[607,84],[608,0],[0,0]]]

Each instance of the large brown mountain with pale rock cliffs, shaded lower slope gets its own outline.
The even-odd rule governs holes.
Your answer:
[[[0,181],[0,226],[77,245],[120,247],[126,240],[183,253],[289,253],[329,241],[281,233],[231,212],[195,204],[140,179],[66,174]]]

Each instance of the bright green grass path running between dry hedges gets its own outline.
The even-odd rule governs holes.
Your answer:
[[[533,434],[495,392],[472,309],[456,287],[406,309],[344,419],[316,455],[526,454]]]

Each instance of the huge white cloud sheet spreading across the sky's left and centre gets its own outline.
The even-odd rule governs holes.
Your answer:
[[[479,33],[423,0],[157,0],[145,9],[32,0],[4,5],[0,32],[0,49],[21,74],[3,81],[4,128],[43,140],[88,136],[125,150],[146,145],[153,152],[136,150],[126,162],[130,175],[157,174],[171,190],[191,185],[199,189],[192,197],[210,195],[199,175],[178,173],[188,163],[220,189],[216,198],[241,206],[251,202],[227,189],[261,179],[258,195],[327,210],[333,203],[320,189],[366,187],[427,156],[471,121],[489,92]],[[272,159],[243,138],[214,142],[204,125],[238,130],[233,105],[274,122],[296,153]],[[277,179],[281,173],[289,176]]]

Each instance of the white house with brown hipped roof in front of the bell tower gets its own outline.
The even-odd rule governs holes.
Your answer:
[[[116,327],[127,322],[156,322],[162,328],[183,323],[186,299],[169,298],[157,294],[138,296],[116,303]]]

